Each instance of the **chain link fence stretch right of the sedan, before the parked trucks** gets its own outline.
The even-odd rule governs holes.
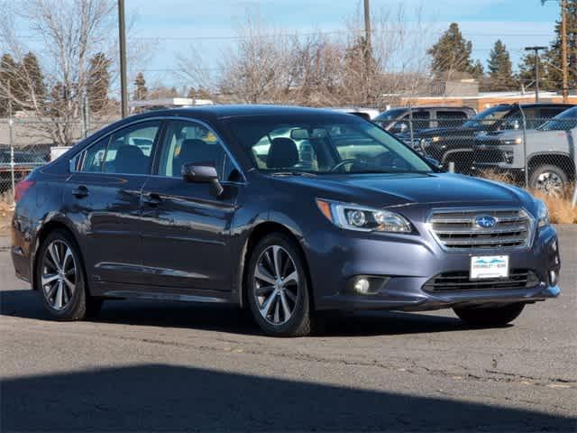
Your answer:
[[[440,120],[409,118],[389,131],[445,170],[572,196],[577,117]]]

